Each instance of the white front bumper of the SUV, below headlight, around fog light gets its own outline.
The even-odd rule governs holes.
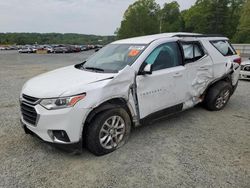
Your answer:
[[[36,125],[28,123],[21,116],[21,122],[25,129],[50,143],[69,145],[81,141],[83,124],[89,109],[75,106],[73,108],[47,110],[40,104],[37,104],[34,108],[38,114]],[[57,139],[58,137],[53,135],[54,131],[63,131],[66,133],[68,140]]]

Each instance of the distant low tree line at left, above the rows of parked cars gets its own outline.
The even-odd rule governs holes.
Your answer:
[[[0,33],[0,44],[107,44],[114,36],[74,33]]]

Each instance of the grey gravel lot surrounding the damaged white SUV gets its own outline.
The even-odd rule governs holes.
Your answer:
[[[0,52],[0,187],[250,187],[250,82],[220,112],[201,107],[132,131],[103,157],[72,155],[25,135],[18,97],[29,78],[91,52]]]

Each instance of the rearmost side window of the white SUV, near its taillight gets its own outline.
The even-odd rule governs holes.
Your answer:
[[[224,56],[230,56],[230,55],[236,54],[235,50],[229,44],[228,41],[217,40],[217,41],[210,41],[210,42]]]

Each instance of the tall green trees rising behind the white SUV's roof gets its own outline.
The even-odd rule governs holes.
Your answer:
[[[176,1],[161,8],[155,0],[137,0],[124,13],[118,39],[164,33],[222,34],[250,43],[250,0],[197,0],[187,10]]]

